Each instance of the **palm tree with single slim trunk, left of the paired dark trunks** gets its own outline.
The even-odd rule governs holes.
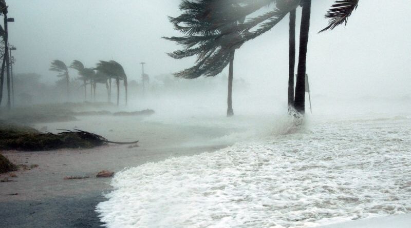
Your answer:
[[[230,34],[237,30],[244,18],[236,18],[230,23],[233,14],[223,13],[220,9],[236,11],[240,5],[236,1],[182,1],[180,10],[183,13],[178,17],[170,17],[176,30],[185,34],[183,37],[163,37],[172,40],[182,46],[183,50],[169,53],[169,56],[180,59],[197,55],[196,65],[175,73],[182,78],[197,78],[204,76],[216,76],[227,65],[229,66],[227,116],[233,116],[232,90],[233,90],[233,65],[235,50],[238,49],[240,33]],[[181,25],[183,24],[183,26]]]

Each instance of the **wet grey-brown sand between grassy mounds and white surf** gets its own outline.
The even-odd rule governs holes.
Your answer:
[[[0,221],[4,227],[99,227],[95,206],[110,191],[111,178],[96,178],[101,170],[119,172],[170,156],[194,155],[228,146],[212,143],[232,129],[166,125],[138,117],[82,117],[79,121],[38,124],[55,129],[78,128],[109,140],[140,140],[138,147],[114,145],[88,150],[2,152],[16,164],[39,165],[14,172],[13,182],[0,183]],[[8,177],[0,175],[0,178]],[[66,176],[88,176],[65,180]]]

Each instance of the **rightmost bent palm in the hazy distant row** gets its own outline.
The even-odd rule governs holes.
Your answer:
[[[127,105],[127,75],[125,74],[123,67],[114,60],[111,60],[111,61],[100,60],[100,62],[97,64],[96,70],[116,80],[117,106],[119,105],[119,99],[120,99],[120,80],[124,80],[125,103]]]

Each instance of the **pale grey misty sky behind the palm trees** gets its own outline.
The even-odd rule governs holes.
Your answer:
[[[175,60],[177,50],[161,36],[179,35],[167,15],[179,14],[177,0],[12,0],[10,44],[17,47],[16,73],[49,72],[53,59],[67,65],[73,59],[94,67],[98,60],[116,60],[129,80],[146,73],[172,73],[193,65]],[[314,95],[404,96],[411,84],[411,4],[409,0],[361,0],[346,28],[317,34],[331,0],[314,0],[311,14],[307,72]],[[297,11],[297,29],[301,8]],[[298,36],[298,31],[297,31]],[[228,73],[225,69],[223,73]],[[77,77],[71,71],[72,77]],[[284,96],[288,77],[288,16],[266,34],[236,52],[234,77],[244,78],[258,93]],[[234,96],[235,96],[234,91]]]

